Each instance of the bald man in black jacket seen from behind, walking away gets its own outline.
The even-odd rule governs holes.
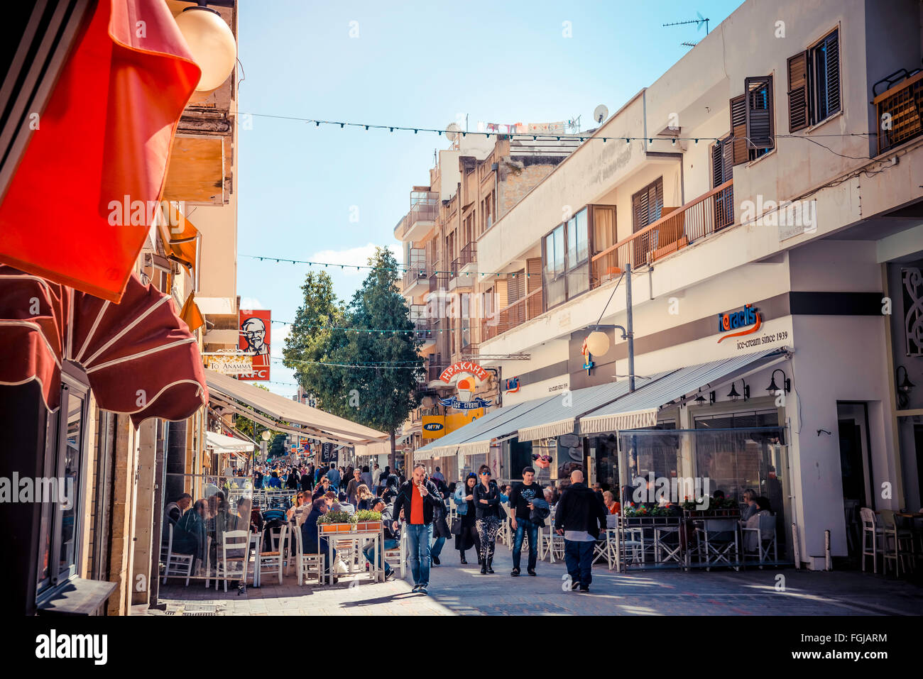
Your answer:
[[[593,581],[593,547],[605,529],[605,505],[583,482],[583,472],[570,472],[570,485],[557,503],[555,530],[564,536],[564,562],[570,589],[589,591]]]

